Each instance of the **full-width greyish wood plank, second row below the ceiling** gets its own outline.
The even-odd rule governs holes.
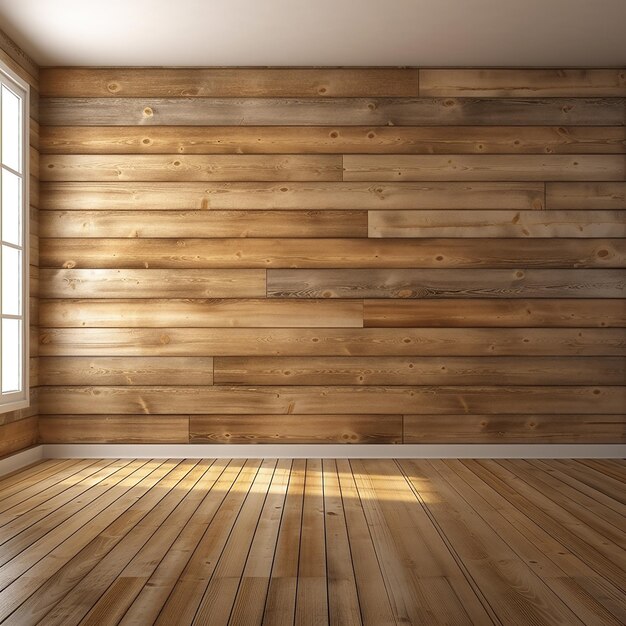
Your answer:
[[[624,98],[42,98],[48,126],[623,126]]]

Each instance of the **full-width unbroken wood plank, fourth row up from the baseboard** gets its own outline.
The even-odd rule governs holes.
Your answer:
[[[43,328],[41,356],[626,356],[621,328]]]

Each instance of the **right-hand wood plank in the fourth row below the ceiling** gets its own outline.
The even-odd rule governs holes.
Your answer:
[[[42,162],[45,159],[42,157]],[[347,181],[620,181],[626,177],[626,157],[613,154],[346,154],[343,168]]]

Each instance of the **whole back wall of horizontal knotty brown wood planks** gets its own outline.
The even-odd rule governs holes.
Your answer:
[[[624,70],[41,90],[43,441],[626,440]]]

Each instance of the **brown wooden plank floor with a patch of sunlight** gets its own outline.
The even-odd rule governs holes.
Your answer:
[[[623,624],[619,461],[49,460],[3,624]]]

